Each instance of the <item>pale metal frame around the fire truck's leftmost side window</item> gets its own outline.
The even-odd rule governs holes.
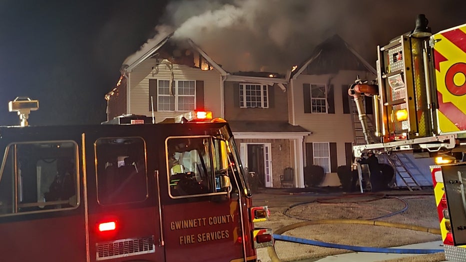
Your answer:
[[[19,195],[20,193],[22,193],[23,191],[23,188],[22,188],[22,184],[21,182],[19,181],[21,178],[19,177],[19,174],[17,174],[17,170],[14,170],[14,177],[12,177],[12,190],[13,190],[13,201],[15,201],[15,203],[13,204],[13,206],[16,206],[16,210],[13,211],[13,212],[9,212],[9,213],[4,213],[4,214],[1,214],[0,213],[0,217],[3,217],[3,216],[12,216],[12,215],[22,215],[22,214],[30,214],[30,213],[44,213],[44,212],[54,212],[54,211],[62,211],[62,210],[71,210],[71,209],[76,209],[79,207],[80,205],[80,192],[81,192],[81,188],[80,188],[80,175],[79,175],[79,149],[78,149],[78,144],[76,141],[74,140],[66,140],[66,139],[63,139],[63,140],[32,140],[32,141],[16,141],[16,142],[10,142],[8,143],[6,146],[5,146],[5,150],[4,150],[4,154],[3,154],[3,159],[2,159],[2,162],[1,162],[1,166],[0,166],[0,183],[1,183],[1,179],[3,177],[3,173],[5,171],[5,164],[6,164],[6,160],[8,159],[8,154],[9,154],[9,151],[11,150],[11,147],[15,147],[15,145],[18,145],[18,144],[33,144],[33,143],[65,143],[65,142],[70,142],[73,144],[73,153],[74,153],[74,157],[73,157],[73,160],[74,160],[74,172],[75,172],[75,177],[74,178],[74,182],[75,182],[75,185],[74,185],[74,189],[75,189],[75,195],[76,195],[76,200],[75,200],[75,205],[74,206],[70,206],[70,207],[57,207],[57,208],[46,208],[46,209],[41,209],[41,210],[32,210],[32,211],[19,211],[19,208],[20,207],[34,207],[34,206],[48,206],[48,205],[53,205],[53,204],[64,204],[64,203],[69,203],[69,199],[68,201],[66,200],[55,200],[55,201],[49,201],[48,203],[47,202],[30,202],[30,203],[23,203],[23,204],[20,204],[19,203],[19,199],[22,198],[21,195]],[[13,150],[16,150],[15,148]],[[11,154],[14,154],[14,152],[12,152]],[[14,159],[14,166],[17,166],[18,165],[18,159],[17,159],[17,155],[12,155],[13,159]],[[21,184],[21,185],[20,185]],[[14,186],[16,186],[16,188],[14,188]],[[37,199],[38,200],[38,199]],[[44,207],[41,207],[41,208],[44,208]]]

